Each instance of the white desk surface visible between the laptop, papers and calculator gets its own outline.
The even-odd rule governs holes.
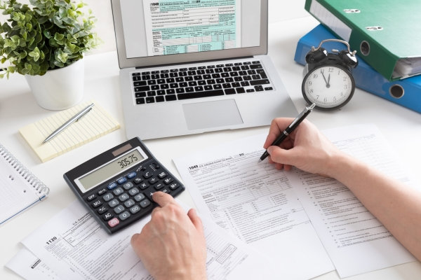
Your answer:
[[[269,24],[269,55],[298,111],[304,108],[305,101],[301,94],[302,66],[293,61],[295,46],[298,39],[317,24],[318,22],[310,16]],[[0,143],[51,189],[47,200],[0,227],[0,279],[20,279],[4,267],[4,264],[21,248],[20,240],[75,200],[76,197],[62,179],[62,174],[88,158],[127,140],[118,75],[116,52],[86,56],[84,100],[95,99],[99,102],[114,118],[119,120],[121,129],[45,163],[41,163],[36,158],[25,140],[20,137],[18,129],[55,112],[42,109],[36,104],[23,76],[15,74],[9,80],[6,78],[0,80]],[[407,164],[408,171],[415,175],[415,180],[421,186],[421,173],[417,172],[421,158],[421,115],[419,113],[357,89],[352,101],[340,111],[314,111],[308,118],[322,130],[352,124],[374,123],[399,153],[401,160]],[[178,175],[172,162],[173,158],[200,151],[206,146],[265,133],[267,130],[268,127],[255,127],[148,140],[145,143],[163,165]],[[180,178],[179,175],[178,178]],[[182,193],[180,199],[194,205],[188,191]],[[316,279],[340,278],[336,272],[329,272]],[[421,264],[410,262],[348,279],[421,279]]]

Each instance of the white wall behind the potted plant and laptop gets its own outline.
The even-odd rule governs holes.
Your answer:
[[[29,2],[29,0],[18,1],[21,3]],[[103,41],[103,43],[97,49],[91,51],[90,54],[116,50],[111,1],[84,0],[83,2],[88,4],[88,7],[93,11],[93,15],[98,19],[95,29]],[[269,22],[308,16],[309,14],[304,9],[304,4],[305,0],[269,0]],[[0,15],[0,22],[4,22],[4,20],[6,20],[5,16]]]

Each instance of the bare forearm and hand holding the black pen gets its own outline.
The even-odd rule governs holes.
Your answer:
[[[343,153],[308,121],[301,123],[281,147],[269,147],[291,121],[278,118],[272,122],[264,146],[268,148],[269,162],[278,169],[295,166],[337,179],[421,260],[421,193]]]

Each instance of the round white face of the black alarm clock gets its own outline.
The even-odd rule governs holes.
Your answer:
[[[302,81],[302,94],[319,109],[338,109],[349,102],[355,82],[351,73],[340,65],[317,66]]]

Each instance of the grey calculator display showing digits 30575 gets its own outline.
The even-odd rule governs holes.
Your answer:
[[[121,155],[121,157],[107,162],[105,165],[95,169],[88,175],[79,178],[79,187],[84,189],[82,190],[84,193],[112,176],[131,168],[133,165],[136,165],[144,159],[145,157],[140,154],[137,149],[133,149],[132,151]]]

